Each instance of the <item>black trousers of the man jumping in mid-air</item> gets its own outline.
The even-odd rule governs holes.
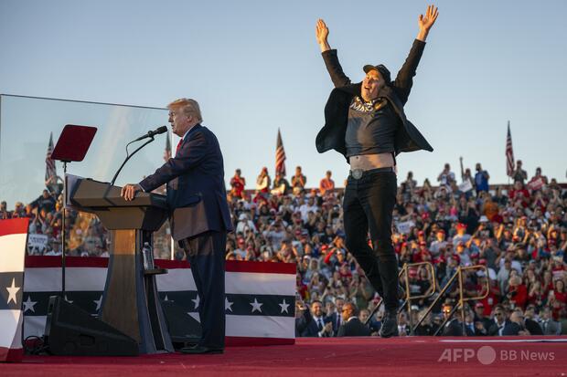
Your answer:
[[[348,176],[343,202],[348,251],[384,299],[386,309],[398,308],[398,261],[391,244],[396,184],[393,172],[369,171],[358,180]]]

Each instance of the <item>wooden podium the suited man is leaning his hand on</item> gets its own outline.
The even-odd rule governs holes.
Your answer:
[[[121,188],[91,179],[70,187],[70,203],[95,214],[111,231],[110,260],[102,295],[100,318],[137,340],[140,353],[173,352],[166,319],[157,296],[153,232],[164,224],[166,196],[137,194],[127,202]]]

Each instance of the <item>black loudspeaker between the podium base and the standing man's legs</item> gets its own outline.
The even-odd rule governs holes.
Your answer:
[[[162,309],[166,316],[167,330],[171,342],[176,349],[184,347],[187,343],[198,343],[201,339],[201,324],[187,314],[173,301],[162,301]]]

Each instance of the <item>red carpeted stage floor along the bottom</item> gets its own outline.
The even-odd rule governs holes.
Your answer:
[[[566,376],[567,337],[326,338],[295,345],[230,347],[222,355],[26,356],[0,376],[58,375]]]

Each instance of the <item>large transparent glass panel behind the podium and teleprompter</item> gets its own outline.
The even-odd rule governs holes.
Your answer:
[[[46,182],[46,155],[50,135],[56,144],[66,124],[98,129],[85,159],[70,162],[67,173],[110,182],[126,157],[125,145],[147,131],[167,124],[167,110],[60,99],[0,97],[0,201],[6,202],[9,215],[27,215],[32,219],[30,234],[34,236],[30,236],[28,246],[32,254],[60,254],[62,180]],[[171,132],[157,135],[154,142],[126,163],[115,184],[137,183],[161,166],[168,137]],[[134,152],[142,142],[132,144],[129,151]],[[62,177],[62,163],[55,162],[55,167],[57,175]],[[108,254],[108,232],[95,216],[70,211],[68,218],[69,255]],[[155,257],[169,258],[168,232],[166,224],[155,235]]]

